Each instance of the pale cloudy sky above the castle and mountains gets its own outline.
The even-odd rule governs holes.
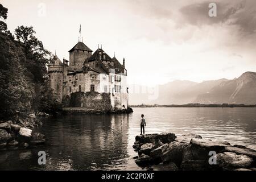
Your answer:
[[[209,3],[217,17],[209,17]],[[69,59],[83,42],[122,63],[130,84],[215,80],[256,72],[256,1],[1,0],[7,24],[33,26],[44,46]]]

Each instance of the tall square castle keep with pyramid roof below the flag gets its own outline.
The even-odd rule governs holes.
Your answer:
[[[69,66],[82,68],[86,58],[92,55],[92,50],[87,47],[84,43],[78,42],[69,51]]]

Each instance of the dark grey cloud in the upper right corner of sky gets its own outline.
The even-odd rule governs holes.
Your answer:
[[[238,26],[238,30],[244,35],[256,33],[256,1],[218,1],[217,17],[208,15],[209,3],[207,1],[181,7],[181,23],[195,26],[224,23]]]

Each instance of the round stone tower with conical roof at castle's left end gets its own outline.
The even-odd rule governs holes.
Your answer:
[[[53,56],[52,63],[48,65],[48,73],[50,78],[50,86],[55,93],[57,100],[62,101],[63,98],[63,63],[61,63],[59,57]]]

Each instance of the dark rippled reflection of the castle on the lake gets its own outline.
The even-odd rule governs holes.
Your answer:
[[[60,148],[52,148],[51,155],[70,156],[74,169],[104,169],[128,157],[129,115],[66,115],[63,120],[55,133]]]

